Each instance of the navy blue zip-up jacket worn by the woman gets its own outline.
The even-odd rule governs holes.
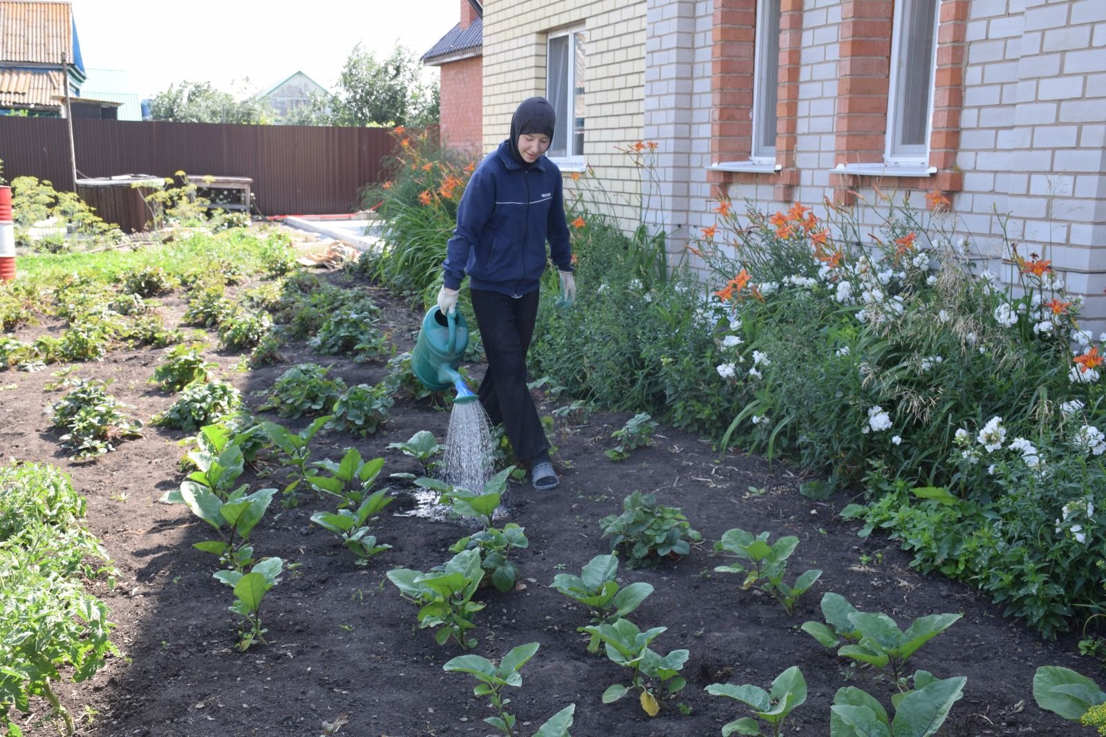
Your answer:
[[[561,169],[545,156],[529,168],[504,141],[481,162],[457,208],[457,228],[442,262],[447,289],[522,295],[538,289],[545,270],[545,241],[557,269],[572,271]]]

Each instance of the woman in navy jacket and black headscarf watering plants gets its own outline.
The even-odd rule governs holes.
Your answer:
[[[514,111],[511,137],[484,158],[465,189],[438,292],[438,308],[452,312],[468,274],[488,354],[480,404],[493,425],[503,423],[515,456],[530,466],[531,482],[540,490],[560,485],[526,387],[526,351],[538,318],[546,240],[565,302],[576,298],[561,170],[544,155],[555,124],[553,106],[543,97],[524,100]]]

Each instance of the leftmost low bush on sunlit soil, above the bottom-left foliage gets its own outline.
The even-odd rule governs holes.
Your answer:
[[[106,383],[77,378],[73,390],[51,406],[52,427],[63,432],[62,445],[77,458],[94,458],[115,448],[121,438],[138,437],[142,423],[127,418],[124,406],[104,391]]]

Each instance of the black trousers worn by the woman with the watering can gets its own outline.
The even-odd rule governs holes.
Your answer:
[[[538,320],[538,291],[514,298],[491,290],[470,290],[488,354],[488,372],[478,392],[480,404],[492,425],[503,423],[519,460],[528,461],[550,448],[526,387],[526,351]]]

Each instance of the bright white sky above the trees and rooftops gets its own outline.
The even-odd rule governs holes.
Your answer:
[[[85,69],[126,72],[152,97],[211,82],[236,96],[296,71],[333,89],[354,44],[421,56],[460,20],[459,0],[72,0]],[[431,68],[430,73],[436,73]],[[248,83],[246,80],[249,80]]]

